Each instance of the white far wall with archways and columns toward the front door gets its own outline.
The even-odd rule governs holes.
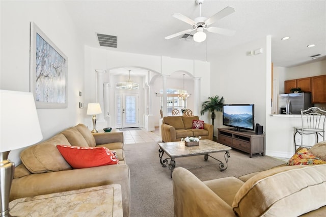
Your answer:
[[[95,69],[106,70],[106,78],[104,83],[110,83],[110,114],[115,114],[115,83],[119,80],[112,79],[110,75],[110,70],[115,68],[127,68],[127,67],[139,67],[143,69],[147,69],[153,74],[156,74],[154,80],[151,80],[151,98],[152,98],[152,112],[155,119],[155,126],[159,126],[159,110],[160,110],[160,102],[159,97],[156,97],[155,92],[159,93],[162,89],[162,79],[161,75],[172,75],[178,71],[185,71],[186,78],[189,77],[200,77],[201,83],[205,85],[201,85],[201,90],[199,101],[202,102],[206,100],[206,97],[209,95],[209,63],[202,61],[194,61],[194,60],[185,60],[185,59],[176,59],[170,57],[160,57],[160,56],[150,56],[150,55],[140,55],[137,53],[126,53],[126,52],[118,52],[112,50],[106,50],[102,48],[92,48],[85,47],[85,81],[88,84],[85,87],[85,105],[88,102],[91,102],[92,99],[96,96],[96,74]],[[147,77],[143,78],[143,83],[147,82]],[[125,78],[122,78],[120,82],[124,82]],[[193,80],[187,80],[186,89],[189,90],[189,93],[192,93],[192,97],[194,95],[193,86],[190,87],[188,85],[193,85]],[[140,88],[144,88],[142,85]],[[174,80],[167,79],[167,88],[183,88],[182,80]],[[142,92],[144,94],[144,91]],[[144,96],[142,96],[144,98]],[[195,102],[193,98],[189,98],[188,107],[194,106]],[[140,109],[140,118],[145,114],[146,105],[142,105],[142,109]],[[84,122],[91,127],[90,118],[84,114]],[[205,119],[203,119],[205,121]],[[206,121],[208,121],[206,119]],[[110,127],[115,127],[115,119],[114,115],[111,115],[110,120],[106,119],[105,123],[99,123],[101,128],[110,125]],[[98,123],[96,124],[98,125]],[[140,126],[143,125],[143,122],[140,122]]]

